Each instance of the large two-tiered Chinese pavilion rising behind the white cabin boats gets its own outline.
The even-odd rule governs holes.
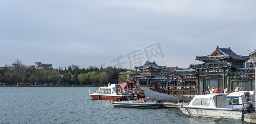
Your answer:
[[[249,56],[237,55],[230,48],[218,46],[210,55],[196,56],[196,60],[204,62],[196,65],[190,64],[190,68],[198,73],[198,91],[209,91],[210,88],[223,91],[227,85],[230,90],[234,90],[237,84],[252,90],[254,79],[251,77],[254,77],[252,73],[254,68],[249,66],[243,68],[249,58]]]

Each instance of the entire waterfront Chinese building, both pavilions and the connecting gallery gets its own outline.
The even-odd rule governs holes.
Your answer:
[[[217,48],[206,56],[196,56],[202,64],[190,64],[190,69],[161,72],[166,66],[158,66],[154,61],[135,67],[140,74],[131,75],[135,86],[165,89],[168,94],[191,95],[200,91],[255,90],[255,69],[247,62],[250,57],[238,55],[230,48]],[[154,89],[153,88],[153,89]],[[155,90],[156,91],[156,90]]]

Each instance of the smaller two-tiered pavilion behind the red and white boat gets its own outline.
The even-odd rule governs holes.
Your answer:
[[[136,79],[135,86],[166,87],[167,78],[160,75],[161,70],[165,69],[166,66],[158,66],[155,61],[146,61],[143,66],[135,66],[134,68],[141,71],[139,74],[131,75]]]

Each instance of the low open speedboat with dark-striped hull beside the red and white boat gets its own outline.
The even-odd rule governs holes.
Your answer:
[[[114,107],[132,107],[132,108],[158,108],[163,103],[152,102],[150,98],[140,98],[137,100],[114,102]]]

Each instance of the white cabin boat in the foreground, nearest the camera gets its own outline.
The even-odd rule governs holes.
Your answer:
[[[226,94],[213,93],[195,95],[188,105],[179,104],[180,110],[190,116],[216,117],[243,119],[247,112],[243,109],[232,109],[230,107]]]

